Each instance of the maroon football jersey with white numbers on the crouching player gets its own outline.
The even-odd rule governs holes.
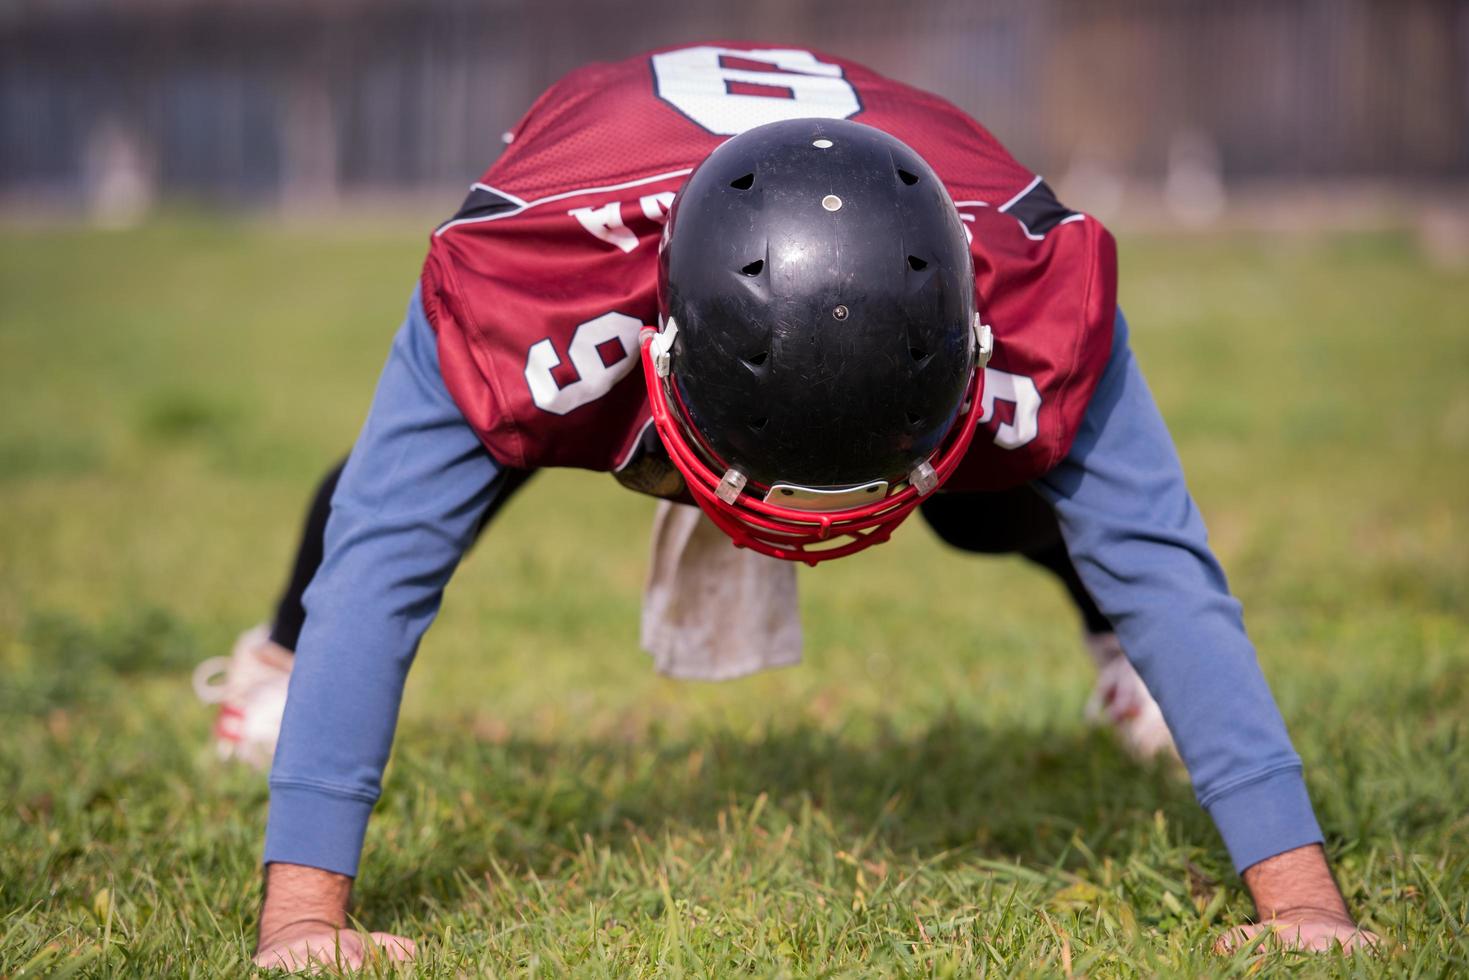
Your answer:
[[[996,345],[983,429],[946,489],[1014,486],[1066,454],[1112,344],[1106,229],[936,96],[827,54],[714,43],[563,78],[433,232],[422,295],[444,381],[499,463],[618,470],[657,447],[638,331],[657,323],[673,195],[730,135],[812,116],[911,145],[970,232]]]

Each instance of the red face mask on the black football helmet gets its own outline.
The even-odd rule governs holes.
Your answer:
[[[959,417],[939,450],[912,469],[906,483],[899,485],[900,489],[890,492],[886,483],[883,483],[884,492],[877,494],[865,492],[876,483],[848,488],[837,491],[846,497],[840,501],[833,500],[831,504],[848,504],[853,491],[877,497],[877,500],[862,502],[858,498],[852,500],[849,505],[836,505],[827,510],[812,507],[809,501],[802,501],[796,507],[782,505],[773,500],[779,500],[780,495],[774,491],[780,485],[771,488],[771,492],[762,500],[745,492],[748,479],[739,470],[727,469],[724,473],[715,473],[710,469],[704,457],[689,444],[683,425],[668,404],[665,379],[673,367],[673,338],[677,335],[677,329],[679,325],[670,319],[661,332],[645,326],[639,336],[648,404],[652,410],[654,425],[658,428],[658,436],[668,451],[668,458],[683,473],[689,492],[699,508],[734,541],[737,548],[751,548],[773,558],[805,561],[811,566],[842,558],[887,541],[923,498],[953,475],[974,439],[983,414],[978,411],[978,406],[984,392],[984,364],[995,345],[990,328],[980,323],[978,316],[975,316],[974,332],[978,356],[959,408]],[[802,489],[790,485],[786,488]],[[842,538],[848,538],[848,541],[842,542]]]

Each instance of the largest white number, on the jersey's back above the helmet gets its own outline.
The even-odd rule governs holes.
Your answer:
[[[776,71],[734,68],[724,59]],[[660,98],[721,137],[782,119],[846,119],[862,107],[840,66],[818,62],[811,51],[686,47],[654,54],[652,73]]]

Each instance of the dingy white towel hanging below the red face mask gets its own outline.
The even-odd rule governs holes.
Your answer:
[[[736,548],[698,507],[658,501],[642,645],[658,673],[680,680],[799,664],[795,564]]]

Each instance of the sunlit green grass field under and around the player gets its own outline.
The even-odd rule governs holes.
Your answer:
[[[0,234],[0,976],[239,976],[263,777],[188,671],[263,619],[419,228]],[[1469,273],[1391,234],[1122,242],[1349,901],[1469,974]],[[1206,976],[1249,911],[1185,780],[1080,720],[1058,589],[921,526],[802,572],[806,663],[636,645],[648,500],[538,478],[410,680],[357,912],[423,976]]]

